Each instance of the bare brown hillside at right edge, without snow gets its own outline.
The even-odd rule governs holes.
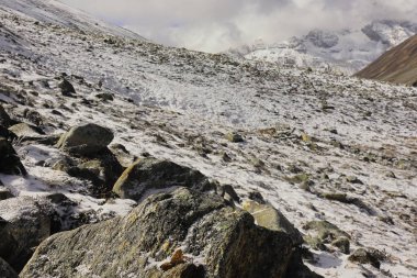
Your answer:
[[[357,76],[417,87],[417,35],[383,54]]]

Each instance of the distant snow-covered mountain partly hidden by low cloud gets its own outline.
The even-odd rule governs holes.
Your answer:
[[[383,20],[360,30],[313,30],[271,45],[260,40],[227,53],[251,60],[353,74],[415,34],[417,23]]]

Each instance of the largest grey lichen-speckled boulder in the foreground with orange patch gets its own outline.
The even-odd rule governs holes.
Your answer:
[[[124,218],[50,236],[20,275],[280,278],[290,277],[293,252],[285,233],[256,225],[221,197],[179,188]]]

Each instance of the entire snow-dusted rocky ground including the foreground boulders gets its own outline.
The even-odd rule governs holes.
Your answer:
[[[5,2],[4,277],[415,276],[415,88]]]

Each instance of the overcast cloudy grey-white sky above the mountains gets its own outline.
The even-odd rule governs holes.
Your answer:
[[[205,52],[314,27],[358,27],[375,19],[416,20],[417,0],[61,0],[166,45]]]

